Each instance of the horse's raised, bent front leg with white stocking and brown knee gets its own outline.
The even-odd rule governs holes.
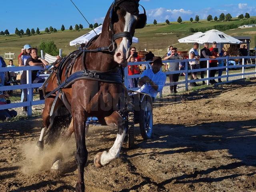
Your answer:
[[[117,111],[114,111],[110,116],[105,117],[105,121],[108,126],[117,127],[118,134],[114,142],[114,145],[110,148],[108,152],[99,152],[94,157],[94,165],[98,168],[105,166],[113,159],[119,157],[122,143],[126,135],[125,121]]]

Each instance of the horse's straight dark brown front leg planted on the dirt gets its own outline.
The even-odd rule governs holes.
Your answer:
[[[85,119],[88,117],[84,114],[84,110],[79,102],[72,102],[72,116],[76,137],[76,163],[78,166],[76,192],[84,192],[84,166],[88,157],[85,144]]]

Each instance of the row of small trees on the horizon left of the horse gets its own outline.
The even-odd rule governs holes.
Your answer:
[[[100,25],[102,25],[102,24],[98,24],[98,23],[95,23],[94,25],[93,25],[93,24],[90,24],[89,28],[93,29],[93,28],[96,28],[96,27],[98,27],[98,26],[100,26]],[[74,27],[74,29],[75,29],[76,31],[82,30],[83,28],[84,28],[84,27],[83,27],[82,24],[79,24],[79,25],[76,24],[75,27]],[[64,26],[63,24],[62,24],[60,30],[61,30],[62,32],[64,32],[65,26]],[[70,25],[69,30],[70,30],[70,31],[73,30],[72,25]],[[46,27],[45,30],[44,30],[44,32],[45,32],[45,33],[52,33],[52,32],[55,33],[55,32],[57,32],[57,29],[56,29],[56,28],[53,28],[52,26],[50,26],[50,27]],[[30,30],[29,28],[27,28],[27,29],[26,29],[26,32],[24,32],[23,29],[18,30],[18,28],[16,28],[16,29],[15,29],[15,34],[16,34],[17,36],[20,36],[20,37],[23,36],[24,34],[25,34],[25,35],[28,35],[28,36],[30,36],[30,35],[35,35],[35,34],[38,34],[38,35],[39,35],[39,34],[40,34],[40,30],[39,30],[39,28],[36,28],[36,31],[34,30],[34,28],[32,28],[31,30]],[[8,31],[8,29],[6,29],[4,32],[1,31],[1,32],[0,32],[0,35],[1,35],[1,36],[4,36],[4,35],[8,36],[8,35],[10,35],[10,32]]]

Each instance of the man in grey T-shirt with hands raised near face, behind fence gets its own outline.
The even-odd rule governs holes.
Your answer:
[[[183,59],[182,56],[178,55],[177,48],[172,48],[172,54],[170,56],[166,56],[164,60],[176,60],[176,59]],[[170,62],[169,70],[170,71],[178,71],[180,67],[180,62]],[[180,74],[170,74],[169,79],[170,83],[178,82]],[[177,85],[170,86],[171,93],[177,93]]]

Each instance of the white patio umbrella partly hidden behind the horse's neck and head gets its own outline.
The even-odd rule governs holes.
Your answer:
[[[99,35],[101,34],[101,31],[102,31],[102,25],[101,26],[98,26],[94,29],[94,31]],[[70,46],[74,46],[76,44],[82,44],[82,43],[87,43],[90,39],[92,39],[94,36],[96,36],[95,32],[93,30],[91,30],[90,32],[86,33],[85,35],[83,36],[80,36],[78,38],[76,38],[75,40],[72,40],[70,41],[69,45]],[[132,42],[133,43],[138,43],[139,42],[139,39],[136,38],[136,37],[133,37],[132,38]]]

